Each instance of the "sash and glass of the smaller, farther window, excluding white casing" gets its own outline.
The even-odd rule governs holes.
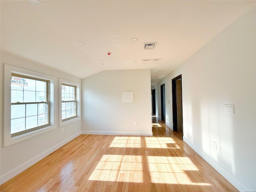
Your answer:
[[[76,86],[61,85],[61,119],[76,117]]]

